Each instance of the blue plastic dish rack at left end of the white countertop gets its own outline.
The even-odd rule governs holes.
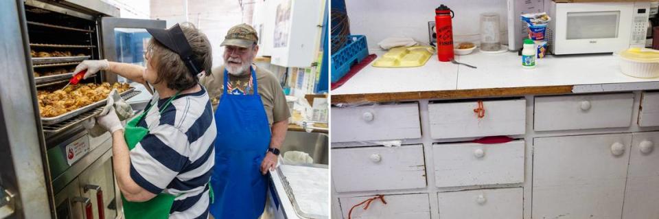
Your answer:
[[[366,43],[366,36],[363,35],[347,35],[347,36],[332,36],[333,40],[337,37],[345,37],[345,46],[339,49],[336,54],[332,54],[332,83],[337,82],[345,76],[350,67],[355,65],[366,56],[369,56],[369,49]]]

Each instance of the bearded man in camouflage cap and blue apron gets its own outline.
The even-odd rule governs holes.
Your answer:
[[[231,27],[221,44],[224,65],[200,78],[216,108],[216,163],[211,175],[215,200],[210,207],[214,218],[261,216],[268,171],[277,164],[288,130],[290,112],[279,80],[252,63],[257,42],[251,26]]]

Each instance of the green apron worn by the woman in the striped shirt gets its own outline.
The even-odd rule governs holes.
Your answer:
[[[174,96],[170,97],[170,99],[165,102],[165,106],[163,106],[159,113],[163,113],[165,108],[170,105],[170,102],[172,102],[172,100],[174,100],[174,98],[176,98],[180,92],[181,91],[178,91],[176,94],[174,94]],[[157,104],[157,102],[154,104]],[[142,119],[142,117],[144,117],[146,113],[149,112],[150,108],[151,106],[149,106],[149,108],[147,108],[142,114],[135,117],[135,119],[130,120],[130,122],[126,124],[124,139],[126,139],[128,150],[135,148],[137,143],[139,143],[139,141],[141,141],[146,135],[149,134],[149,130],[147,128],[139,127],[137,124]],[[126,200],[122,194],[122,201],[124,203],[124,218],[169,218],[170,210],[172,209],[172,204],[174,203],[174,198],[176,198],[176,196],[172,194],[161,193],[146,202],[135,203]]]

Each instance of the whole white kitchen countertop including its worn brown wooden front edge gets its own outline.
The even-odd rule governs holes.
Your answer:
[[[535,69],[522,69],[516,52],[474,51],[456,60],[478,69],[439,62],[436,55],[422,67],[369,65],[332,91],[332,104],[659,89],[659,78],[625,76],[612,54],[547,56],[537,60]]]

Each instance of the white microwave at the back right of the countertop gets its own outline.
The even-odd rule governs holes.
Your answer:
[[[549,47],[553,54],[597,54],[645,47],[649,2],[555,3]]]

